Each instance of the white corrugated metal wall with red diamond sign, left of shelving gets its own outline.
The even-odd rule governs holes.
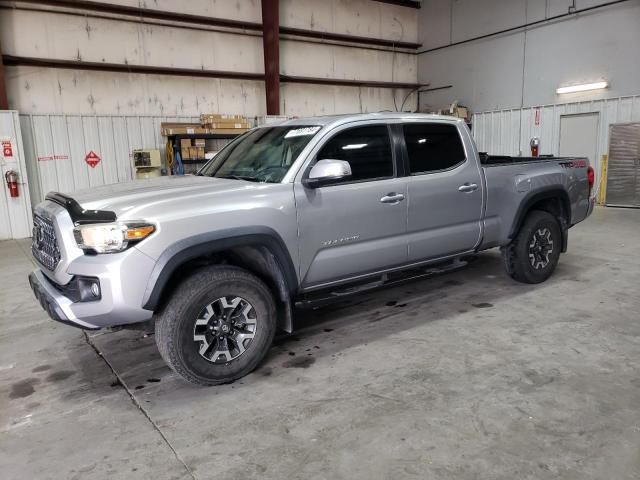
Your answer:
[[[199,122],[197,117],[20,115],[31,203],[47,192],[73,192],[133,179],[131,152],[159,149],[164,158],[162,122]],[[95,152],[100,162],[85,161]]]

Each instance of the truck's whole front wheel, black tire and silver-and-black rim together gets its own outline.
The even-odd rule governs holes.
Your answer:
[[[276,331],[268,287],[246,270],[203,268],[173,293],[156,319],[164,361],[199,385],[229,383],[255,369]]]

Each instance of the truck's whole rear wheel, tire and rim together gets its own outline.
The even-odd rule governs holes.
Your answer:
[[[544,282],[558,265],[561,245],[558,220],[548,212],[532,211],[513,241],[502,249],[507,273],[519,282]]]

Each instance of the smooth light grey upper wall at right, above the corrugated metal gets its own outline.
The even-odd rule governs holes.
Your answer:
[[[638,95],[640,2],[628,1],[526,30],[447,47],[527,22],[602,4],[604,0],[423,0],[418,79],[434,86],[423,107],[453,101],[473,111],[577,103]],[[601,91],[556,95],[560,86],[609,81]]]

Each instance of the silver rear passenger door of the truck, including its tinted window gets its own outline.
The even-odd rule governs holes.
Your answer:
[[[481,234],[481,172],[458,126],[411,122],[402,131],[409,172],[409,261],[474,249]]]

